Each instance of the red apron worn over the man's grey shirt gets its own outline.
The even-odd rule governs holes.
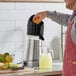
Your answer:
[[[66,43],[63,59],[62,76],[76,76],[76,44],[74,44],[71,39],[70,35],[71,28],[72,28],[72,21],[69,21],[65,39]]]

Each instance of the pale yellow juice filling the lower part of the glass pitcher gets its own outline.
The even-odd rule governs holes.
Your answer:
[[[39,68],[40,69],[51,69],[52,68],[52,58],[49,55],[40,56]]]

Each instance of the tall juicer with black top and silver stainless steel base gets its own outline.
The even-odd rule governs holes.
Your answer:
[[[27,23],[28,47],[27,47],[27,66],[39,66],[39,46],[41,40],[44,40],[44,23],[43,21],[36,24],[32,21],[32,15]]]

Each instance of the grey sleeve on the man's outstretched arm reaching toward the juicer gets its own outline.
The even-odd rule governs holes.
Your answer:
[[[47,11],[48,18],[63,26],[68,25],[68,19],[70,16],[71,15],[69,14],[63,14],[56,11]]]

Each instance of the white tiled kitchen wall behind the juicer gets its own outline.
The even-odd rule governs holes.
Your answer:
[[[28,43],[28,36],[26,34],[27,20],[36,12],[44,10],[70,12],[70,10],[66,10],[64,3],[0,2],[0,53],[15,53],[17,54],[16,61],[26,60]],[[43,21],[45,25],[45,41],[43,43],[44,46],[50,46],[55,36],[60,38],[61,27],[48,18]]]

